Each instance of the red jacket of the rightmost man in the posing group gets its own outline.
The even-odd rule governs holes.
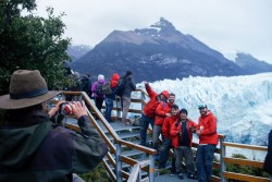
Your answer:
[[[199,117],[197,130],[200,130],[199,144],[218,145],[217,118],[211,111]]]

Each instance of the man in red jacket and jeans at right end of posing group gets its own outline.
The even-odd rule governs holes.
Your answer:
[[[200,117],[198,119],[197,135],[197,174],[198,181],[211,181],[214,151],[218,145],[217,118],[208,110],[206,104],[198,105]]]

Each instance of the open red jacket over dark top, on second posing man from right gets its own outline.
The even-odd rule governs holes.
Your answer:
[[[187,120],[186,122],[187,122],[187,132],[189,135],[189,146],[191,146],[193,133],[189,131],[189,128],[191,128],[191,126],[197,128],[197,124],[191,120]],[[182,130],[181,122],[178,122],[178,124],[173,123],[171,126],[170,135],[172,136],[172,145],[174,146],[174,148],[178,147],[178,142],[180,142],[180,139],[182,139],[180,136],[181,130]]]

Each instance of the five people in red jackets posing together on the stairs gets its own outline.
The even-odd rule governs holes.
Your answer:
[[[198,123],[189,119],[188,111],[178,109],[175,105],[175,95],[168,90],[157,94],[148,83],[146,90],[150,97],[141,114],[140,145],[147,146],[147,129],[151,124],[152,147],[158,150],[159,168],[165,168],[169,151],[173,147],[172,173],[183,177],[183,158],[185,158],[186,173],[189,179],[211,181],[213,154],[218,145],[217,118],[207,105],[198,106],[200,117]],[[191,150],[193,133],[199,136],[199,146],[196,155],[197,177]],[[159,136],[162,145],[159,147]]]

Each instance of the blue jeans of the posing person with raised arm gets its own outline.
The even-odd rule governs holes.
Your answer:
[[[149,124],[151,124],[153,130],[154,118],[148,118],[144,113],[141,113],[140,120],[140,145],[146,146],[147,143],[147,129]]]

